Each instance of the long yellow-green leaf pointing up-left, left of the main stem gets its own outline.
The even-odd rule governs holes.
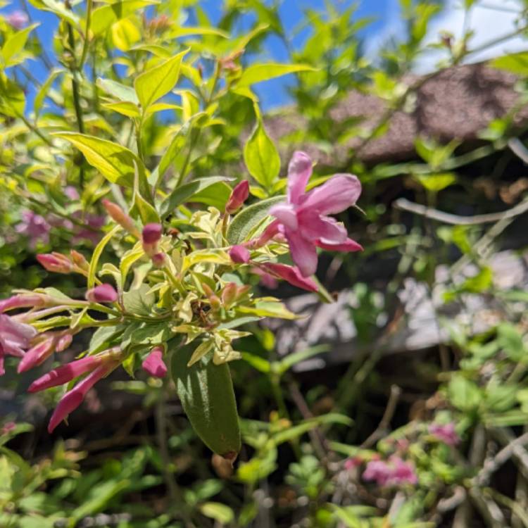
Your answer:
[[[134,161],[140,162],[129,149],[107,139],[77,132],[56,132],[53,135],[76,146],[87,162],[99,170],[108,181],[128,187],[134,184]]]

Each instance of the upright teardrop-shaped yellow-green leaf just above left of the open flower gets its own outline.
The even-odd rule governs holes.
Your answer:
[[[251,176],[270,189],[279,175],[280,157],[261,120],[244,146],[244,162]]]

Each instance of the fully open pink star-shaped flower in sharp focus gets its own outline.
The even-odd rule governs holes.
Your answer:
[[[306,153],[295,152],[288,167],[288,200],[270,209],[277,220],[274,228],[284,233],[291,258],[303,277],[317,270],[317,247],[329,251],[360,251],[362,247],[348,238],[343,224],[328,215],[341,213],[353,206],[361,194],[356,176],[337,174],[320,187],[306,193],[312,174],[312,161]]]

